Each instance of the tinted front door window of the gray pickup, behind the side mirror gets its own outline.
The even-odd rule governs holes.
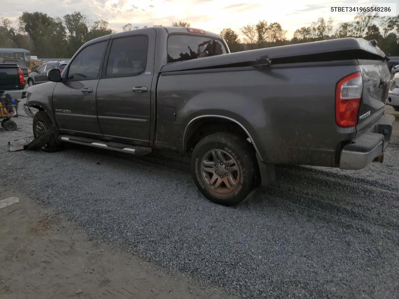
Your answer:
[[[101,43],[89,45],[80,51],[69,66],[67,79],[98,78],[106,46],[107,42],[102,41]]]

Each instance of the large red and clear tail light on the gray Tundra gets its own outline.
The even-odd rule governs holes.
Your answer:
[[[352,73],[338,81],[335,88],[337,126],[342,128],[356,126],[362,92],[363,78],[360,72]]]

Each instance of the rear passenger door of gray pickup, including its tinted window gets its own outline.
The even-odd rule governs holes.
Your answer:
[[[148,145],[155,30],[111,42],[106,70],[97,87],[101,131],[106,140]]]

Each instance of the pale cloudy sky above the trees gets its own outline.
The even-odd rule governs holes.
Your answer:
[[[231,28],[240,33],[240,28],[259,20],[268,24],[279,22],[287,30],[287,38],[302,26],[309,26],[317,18],[333,19],[334,28],[340,22],[353,20],[354,14],[330,12],[331,6],[348,6],[352,3],[396,3],[399,0],[1,0],[0,17],[9,18],[16,24],[24,11],[41,11],[53,17],[79,11],[91,20],[104,19],[109,27],[122,31],[122,26],[171,26],[174,21],[187,21],[191,27],[220,33]],[[300,4],[302,3],[302,4]],[[6,9],[4,9],[6,8]],[[398,7],[399,8],[399,7]],[[396,12],[399,14],[399,12]],[[241,33],[240,33],[240,37]]]

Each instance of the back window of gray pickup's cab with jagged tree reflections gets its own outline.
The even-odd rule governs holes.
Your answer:
[[[168,38],[168,63],[226,54],[221,40],[195,35],[171,35]]]

